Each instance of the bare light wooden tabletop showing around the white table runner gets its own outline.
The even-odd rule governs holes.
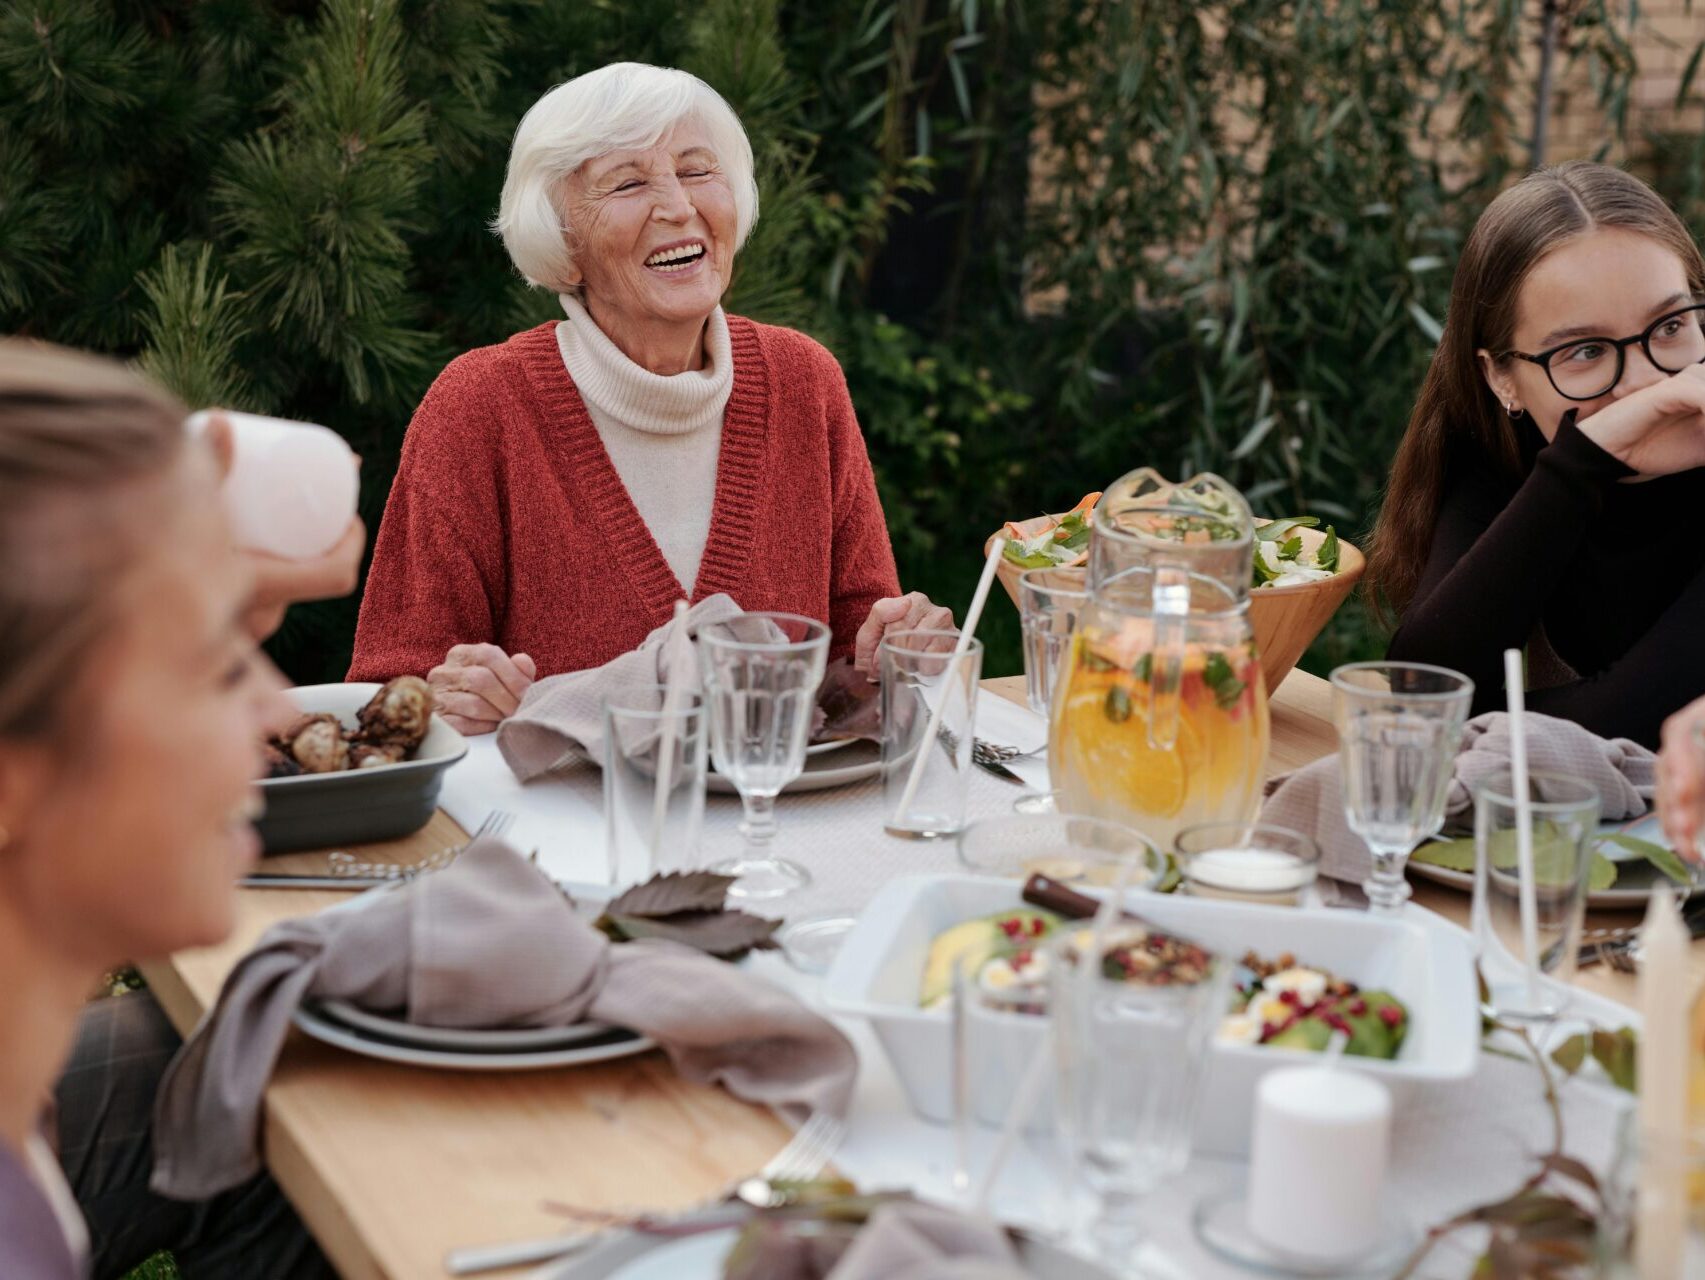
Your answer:
[[[1023,678],[989,680],[1023,701]],[[1272,770],[1337,747],[1326,682],[1294,672],[1272,701]],[[411,862],[464,832],[442,811],[416,835],[361,857]],[[322,854],[268,859],[319,871]],[[343,900],[339,891],[251,890],[220,946],[143,965],[186,1031],[230,966],[273,924]],[[1417,885],[1415,900],[1466,922],[1468,898]],[[1695,948],[1705,970],[1705,944]],[[1632,1000],[1604,968],[1581,982]],[[585,1207],[684,1207],[750,1173],[783,1145],[769,1111],[687,1084],[660,1053],[571,1072],[457,1074],[397,1067],[292,1035],[266,1093],[266,1159],[338,1270],[351,1280],[443,1275],[445,1249],[563,1227],[546,1196]]]

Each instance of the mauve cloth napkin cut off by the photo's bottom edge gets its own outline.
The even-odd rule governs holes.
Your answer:
[[[1023,1280],[1006,1232],[985,1217],[924,1203],[883,1205],[829,1280]]]

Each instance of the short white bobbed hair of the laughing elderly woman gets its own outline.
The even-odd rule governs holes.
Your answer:
[[[672,66],[610,63],[576,75],[522,116],[510,147],[493,230],[529,285],[563,291],[573,278],[573,227],[563,216],[563,179],[610,152],[644,150],[684,119],[711,136],[735,196],[735,247],[757,222],[752,143],[740,118],[704,80]]]

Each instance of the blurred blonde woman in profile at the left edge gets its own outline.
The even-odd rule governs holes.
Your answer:
[[[288,714],[251,634],[276,610],[182,421],[119,365],[0,341],[7,1280],[123,1275],[160,1248],[191,1280],[332,1275],[264,1176],[199,1205],[147,1190],[176,1036],[147,995],[89,1000],[114,965],[227,934],[259,743]]]

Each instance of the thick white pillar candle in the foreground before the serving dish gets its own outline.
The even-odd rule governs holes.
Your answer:
[[[1286,1067],[1255,1091],[1250,1234],[1301,1258],[1354,1258],[1379,1243],[1391,1094],[1332,1065]]]

